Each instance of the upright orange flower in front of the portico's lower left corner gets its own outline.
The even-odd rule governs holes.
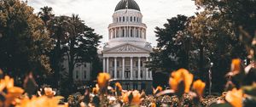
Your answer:
[[[98,85],[102,89],[104,87],[108,87],[108,81],[110,80],[110,76],[108,73],[100,73],[97,77]]]

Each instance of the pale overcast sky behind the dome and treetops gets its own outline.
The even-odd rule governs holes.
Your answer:
[[[108,24],[112,23],[112,14],[120,0],[28,0],[28,5],[35,8],[52,7],[55,15],[79,14],[85,24],[103,36],[102,43],[108,42]],[[162,27],[166,19],[177,14],[191,16],[195,14],[192,0],[135,0],[143,14],[143,23],[148,26],[147,41],[156,46],[154,28]]]

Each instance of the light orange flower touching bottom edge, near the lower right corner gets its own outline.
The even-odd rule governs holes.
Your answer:
[[[233,88],[226,94],[225,99],[234,107],[242,107],[242,90]]]

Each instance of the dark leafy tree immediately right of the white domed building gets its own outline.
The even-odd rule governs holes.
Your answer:
[[[154,31],[157,38],[157,48],[150,53],[152,61],[148,63],[148,67],[153,71],[167,72],[177,70],[178,68],[189,67],[188,44],[186,38],[189,38],[186,31],[189,18],[184,15],[177,15],[167,20],[168,23],[164,28],[156,27]],[[182,39],[183,38],[183,39]],[[156,79],[156,78],[154,78]]]

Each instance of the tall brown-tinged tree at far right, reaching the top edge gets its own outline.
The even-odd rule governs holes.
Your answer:
[[[214,63],[212,71],[213,87],[223,88],[224,74],[229,70],[230,59],[246,59],[244,45],[239,41],[240,29],[255,32],[255,1],[252,0],[195,0],[201,8],[190,23],[190,31],[201,42],[201,76],[206,76],[206,68],[202,64],[209,57]],[[208,52],[208,53],[207,53]],[[208,56],[207,56],[208,54]]]

